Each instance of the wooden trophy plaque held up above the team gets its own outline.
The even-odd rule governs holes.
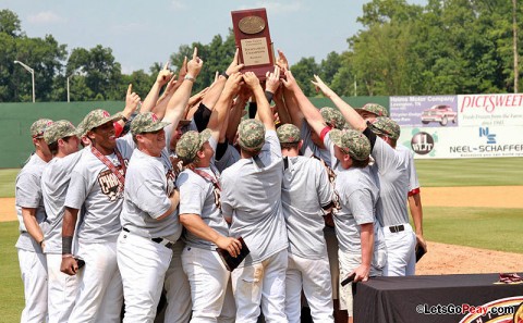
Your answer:
[[[265,8],[232,11],[231,16],[236,47],[240,48],[240,63],[245,65],[243,71],[254,72],[264,80],[267,71],[275,69]]]

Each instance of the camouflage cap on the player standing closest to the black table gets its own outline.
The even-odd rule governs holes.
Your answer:
[[[370,141],[362,133],[352,129],[332,129],[329,136],[336,146],[354,160],[364,161],[370,154]]]

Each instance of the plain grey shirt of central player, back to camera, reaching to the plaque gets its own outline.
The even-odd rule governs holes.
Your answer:
[[[240,264],[251,265],[287,249],[287,227],[281,211],[283,161],[275,131],[255,158],[241,159],[221,175],[221,207],[232,216],[230,235],[243,237],[251,253]]]

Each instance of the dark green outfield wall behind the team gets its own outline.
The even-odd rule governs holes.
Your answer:
[[[343,98],[353,107],[367,102],[389,107],[388,97],[351,97]],[[329,99],[311,98],[318,108],[332,107]],[[94,109],[105,109],[110,113],[122,111],[123,101],[104,102],[37,102],[37,103],[0,103],[0,169],[21,167],[34,151],[29,127],[36,120],[69,120],[78,124]]]

